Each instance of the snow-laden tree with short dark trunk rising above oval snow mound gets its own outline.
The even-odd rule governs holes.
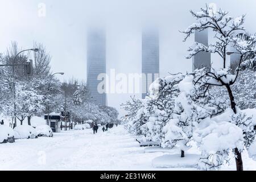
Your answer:
[[[208,94],[204,92],[204,85],[195,85],[200,73],[196,71],[188,74],[176,85],[179,92],[174,97],[173,114],[163,129],[164,144],[168,147],[179,147],[182,158],[189,147],[189,141],[193,139],[195,127],[212,113],[209,106],[205,105]]]

